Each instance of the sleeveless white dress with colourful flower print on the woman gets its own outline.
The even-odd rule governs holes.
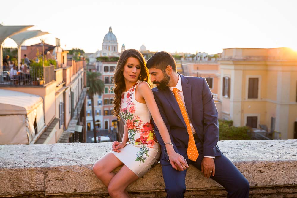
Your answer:
[[[161,154],[151,125],[149,109],[146,104],[135,100],[135,89],[140,82],[137,81],[121,95],[120,115],[126,122],[129,142],[124,148],[120,148],[120,153],[111,151],[138,177],[154,167]]]

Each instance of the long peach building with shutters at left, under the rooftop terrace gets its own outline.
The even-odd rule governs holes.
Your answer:
[[[34,134],[29,144],[86,142],[85,68],[85,61],[72,61],[70,65],[64,64],[57,69],[54,69],[53,65],[46,66],[42,75],[47,76],[47,80],[40,80],[40,84],[34,83],[33,73],[32,78],[22,84],[16,84],[16,81],[0,81],[1,89],[34,94],[43,99],[42,119],[45,127]],[[18,81],[21,80],[19,78]],[[35,127],[35,123],[32,127]]]

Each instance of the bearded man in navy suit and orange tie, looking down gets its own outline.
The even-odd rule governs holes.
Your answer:
[[[163,142],[155,126],[167,197],[184,197],[187,164],[225,187],[228,197],[248,197],[249,182],[217,145],[218,112],[205,78],[176,72],[175,60],[167,52],[155,53],[147,67],[157,85],[152,90],[171,139]]]

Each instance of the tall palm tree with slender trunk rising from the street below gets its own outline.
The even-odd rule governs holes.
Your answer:
[[[89,87],[88,95],[91,99],[92,104],[92,117],[93,117],[93,132],[94,132],[94,142],[96,140],[96,128],[95,128],[95,108],[94,108],[94,95],[100,95],[104,91],[104,83],[100,79],[101,74],[99,72],[87,72],[87,87]]]

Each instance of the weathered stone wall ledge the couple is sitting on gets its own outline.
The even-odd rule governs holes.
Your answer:
[[[0,145],[0,197],[107,197],[92,171],[107,143]],[[219,141],[250,183],[250,197],[297,197],[297,140]],[[115,171],[118,171],[116,169]],[[189,167],[185,197],[225,197],[226,191]],[[132,197],[165,197],[161,165],[128,187]]]

